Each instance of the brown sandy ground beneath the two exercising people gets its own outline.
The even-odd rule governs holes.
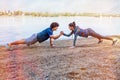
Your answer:
[[[120,80],[120,43],[96,39],[49,42],[31,47],[0,48],[0,80]]]

